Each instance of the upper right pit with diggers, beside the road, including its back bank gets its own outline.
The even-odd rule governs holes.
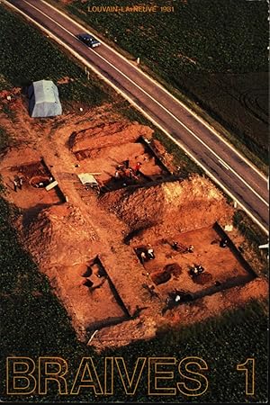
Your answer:
[[[153,130],[144,125],[112,121],[74,131],[68,143],[81,170],[94,173],[103,192],[108,192],[162,180],[170,175],[148,147],[152,135]],[[155,142],[153,147],[156,148]],[[124,165],[127,160],[128,168]],[[138,162],[141,167],[135,175]],[[116,178],[115,173],[119,177]]]

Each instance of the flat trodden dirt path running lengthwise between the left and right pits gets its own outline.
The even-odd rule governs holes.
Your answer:
[[[69,136],[76,129],[77,123],[65,125],[51,131],[49,142],[36,140],[36,146],[47,165],[53,166],[50,167],[51,173],[67,196],[68,202],[81,211],[89,230],[89,237],[100,243],[99,256],[122,302],[132,316],[138,311],[138,307],[146,307],[145,289],[142,288],[146,279],[141,275],[143,269],[132,249],[123,245],[122,239],[127,228],[113,213],[103,210],[94,192],[86,192],[85,196],[85,191],[76,178],[81,169],[76,167],[76,157],[67,148]],[[109,229],[113,231],[108,231]],[[130,279],[130,288],[126,288],[127,284],[123,283],[123,279]],[[125,288],[122,288],[123,284]],[[153,303],[151,311],[155,311],[153,306],[156,307],[156,311],[160,311],[159,302]]]

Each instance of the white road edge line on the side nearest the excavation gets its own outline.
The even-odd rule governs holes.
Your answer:
[[[220,188],[222,190],[224,190],[225,193],[227,193],[229,195],[230,198],[232,198],[235,202],[238,203],[238,205],[242,208],[243,211],[245,211],[247,213],[247,215],[254,220],[255,223],[257,223],[257,225],[268,235],[269,231],[268,229],[259,221],[257,220],[257,218],[253,215],[252,212],[250,212],[245,205],[242,202],[239,202],[238,199],[232,194],[230,193],[230,191],[227,189],[227,187],[220,183],[220,180],[218,180],[214,175],[211,174],[211,172],[208,170],[208,168],[206,168],[204,165],[202,165],[202,163],[196,158],[193,157],[193,154],[184,147],[184,145],[179,142],[178,140],[176,140],[169,132],[167,132],[167,130],[165,130],[157,121],[155,121],[154,118],[152,118],[150,115],[148,115],[147,112],[145,112],[141,107],[139,107],[139,105],[137,105],[127,94],[124,94],[116,85],[113,85],[112,82],[110,82],[109,79],[107,79],[105,76],[103,76],[102,73],[100,73],[100,71],[98,69],[96,69],[95,67],[93,67],[85,58],[83,58],[81,55],[79,55],[76,50],[70,48],[66,42],[63,42],[62,40],[59,40],[58,37],[53,34],[52,32],[50,32],[47,28],[43,27],[40,23],[36,22],[33,18],[31,18],[28,14],[25,14],[22,10],[20,10],[19,8],[17,8],[14,4],[9,3],[7,0],[2,0],[4,4],[14,8],[15,10],[17,10],[17,12],[19,12],[20,14],[22,14],[26,19],[30,20],[31,23],[34,23],[35,25],[37,25],[38,27],[40,27],[41,31],[46,32],[49,37],[53,38],[54,40],[56,40],[60,45],[62,45],[64,48],[68,49],[70,51],[70,53],[72,53],[77,59],[79,59],[82,63],[84,63],[86,66],[90,67],[94,73],[97,76],[100,76],[101,78],[103,78],[103,81],[105,83],[107,83],[108,85],[111,85],[112,88],[116,91],[116,93],[121,94],[123,98],[125,98],[126,100],[129,101],[130,104],[132,104],[135,108],[137,108],[137,110],[139,110],[139,112],[141,112],[144,116],[146,116],[148,118],[149,121],[151,121],[154,125],[157,126],[157,128],[159,128],[160,130],[162,130],[164,133],[166,133],[167,137],[170,138],[176,145],[178,145],[180,148],[182,148],[184,150],[184,152],[193,159],[193,161],[200,167],[202,167],[202,170],[214,181],[214,183],[218,184],[220,186]]]

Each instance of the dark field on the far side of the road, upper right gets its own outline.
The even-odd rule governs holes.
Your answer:
[[[60,0],[57,2],[60,4]],[[139,2],[147,4],[147,2]],[[247,0],[156,0],[172,13],[94,13],[99,0],[67,10],[193,100],[204,118],[260,165],[267,162],[267,4]],[[102,5],[112,5],[103,0]],[[113,5],[130,5],[115,0]],[[178,94],[180,97],[181,95]],[[203,112],[202,112],[203,114]],[[225,130],[222,130],[224,128]],[[253,157],[253,155],[257,157]],[[266,163],[267,164],[267,163]]]

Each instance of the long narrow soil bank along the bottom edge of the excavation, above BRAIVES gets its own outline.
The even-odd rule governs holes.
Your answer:
[[[154,318],[140,317],[136,322],[128,322],[127,329],[125,323],[103,328],[94,335],[90,345],[97,352],[102,352],[104,348],[121,347],[134,340],[153,338],[160,326],[163,330],[167,328],[169,333],[170,328],[179,324],[191,325],[209,317],[219,316],[222,311],[238,308],[252,299],[264,300],[267,295],[268,283],[264,279],[257,278],[243,286],[205,296],[192,304],[188,302],[178,305],[166,312],[166,318],[157,314]],[[125,330],[128,330],[127,334]]]

